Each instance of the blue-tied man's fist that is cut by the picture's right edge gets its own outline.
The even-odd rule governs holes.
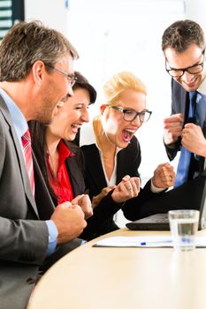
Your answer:
[[[181,133],[181,144],[195,155],[206,157],[206,139],[202,129],[196,124],[186,124]]]

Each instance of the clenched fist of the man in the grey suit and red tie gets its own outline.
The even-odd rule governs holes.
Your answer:
[[[57,244],[65,244],[78,237],[87,226],[80,206],[72,205],[70,202],[58,205],[50,220],[57,226]]]

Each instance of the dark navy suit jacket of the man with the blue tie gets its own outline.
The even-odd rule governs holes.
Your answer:
[[[174,79],[172,79],[172,115],[181,113],[184,115],[184,124],[188,122],[188,109],[189,109],[189,94],[188,92],[179,85]],[[206,119],[205,119],[206,120]],[[203,122],[202,132],[206,136],[206,121]],[[181,139],[179,138],[173,147],[168,147],[165,145],[167,155],[170,160],[173,160],[179,151],[181,146]],[[204,158],[200,157],[200,160],[195,160],[195,157],[192,157],[190,162],[188,180],[193,179],[195,171],[202,173],[204,166]]]

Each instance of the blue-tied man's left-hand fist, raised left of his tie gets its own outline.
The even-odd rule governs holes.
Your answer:
[[[175,114],[164,119],[164,143],[170,145],[178,140],[182,131],[184,118],[182,114]]]

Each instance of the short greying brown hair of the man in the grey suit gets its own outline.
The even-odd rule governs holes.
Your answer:
[[[79,57],[70,41],[57,30],[42,26],[40,21],[19,22],[0,44],[0,81],[25,79],[35,61],[54,66],[68,54],[73,59]]]

